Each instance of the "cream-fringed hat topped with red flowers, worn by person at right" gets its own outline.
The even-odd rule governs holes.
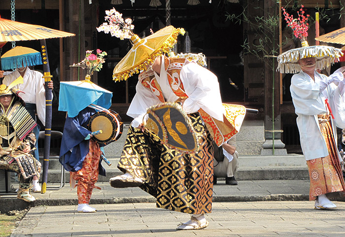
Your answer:
[[[300,72],[301,66],[298,61],[302,58],[314,57],[316,59],[316,68],[324,69],[331,66],[335,61],[337,61],[342,55],[343,52],[339,48],[325,46],[325,45],[315,45],[309,46],[306,41],[308,36],[308,16],[305,17],[303,11],[303,5],[301,6],[301,13],[299,13],[299,18],[293,19],[284,8],[283,12],[285,15],[285,20],[288,25],[294,31],[294,35],[302,41],[302,47],[290,49],[284,53],[281,53],[277,57],[278,68],[280,73],[298,73]]]

